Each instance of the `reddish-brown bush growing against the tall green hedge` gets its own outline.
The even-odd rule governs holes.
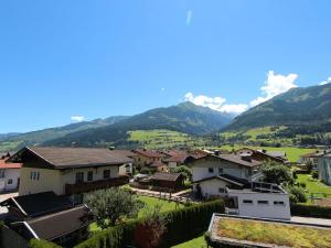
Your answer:
[[[156,205],[148,211],[145,220],[137,226],[135,241],[143,248],[159,247],[167,223],[167,215],[161,213],[161,205]]]

